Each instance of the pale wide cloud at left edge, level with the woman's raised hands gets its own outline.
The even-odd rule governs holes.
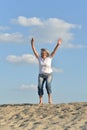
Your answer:
[[[20,33],[0,33],[0,43],[23,43],[24,37]]]

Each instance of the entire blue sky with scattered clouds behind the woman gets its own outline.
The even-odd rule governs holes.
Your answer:
[[[39,102],[32,37],[38,53],[63,40],[52,61],[53,103],[87,102],[87,0],[0,0],[0,104]]]

